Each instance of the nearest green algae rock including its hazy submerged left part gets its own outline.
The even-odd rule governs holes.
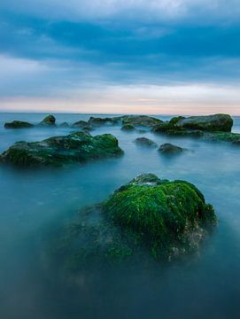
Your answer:
[[[74,268],[145,253],[170,260],[195,251],[215,222],[213,206],[196,186],[143,174],[81,210],[60,255],[70,257]]]

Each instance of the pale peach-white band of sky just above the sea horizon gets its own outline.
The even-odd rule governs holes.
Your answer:
[[[0,111],[240,115],[240,89],[199,83],[105,86],[59,92],[59,97],[2,97]]]

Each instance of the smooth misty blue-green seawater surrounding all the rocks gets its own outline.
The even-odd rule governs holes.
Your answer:
[[[4,129],[5,121],[37,123],[45,114],[1,113],[0,152],[16,141],[67,135],[71,128]],[[58,123],[89,115],[56,114]],[[169,117],[159,116],[166,120]],[[240,118],[234,131],[240,133]],[[240,148],[200,139],[124,132],[104,126],[125,155],[60,169],[0,166],[0,317],[52,318],[239,318]],[[188,148],[167,159],[133,143],[146,136],[157,144]],[[92,276],[59,273],[46,260],[46,234],[72,221],[82,206],[98,203],[141,173],[197,185],[213,204],[219,222],[200,251],[184,261],[148,267],[118,265]],[[50,258],[50,257],[49,257]]]

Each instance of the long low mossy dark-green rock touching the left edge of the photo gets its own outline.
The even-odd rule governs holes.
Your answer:
[[[122,154],[118,140],[111,134],[90,136],[88,133],[76,132],[68,136],[50,137],[42,142],[13,144],[1,155],[1,161],[20,167],[61,167]]]

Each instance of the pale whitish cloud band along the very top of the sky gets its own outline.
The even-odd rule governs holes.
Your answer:
[[[237,0],[9,0],[0,4],[2,10],[12,10],[47,19],[103,20],[118,19],[145,21],[193,20],[201,15],[211,20],[237,19],[240,15]],[[198,20],[201,23],[200,20]]]

